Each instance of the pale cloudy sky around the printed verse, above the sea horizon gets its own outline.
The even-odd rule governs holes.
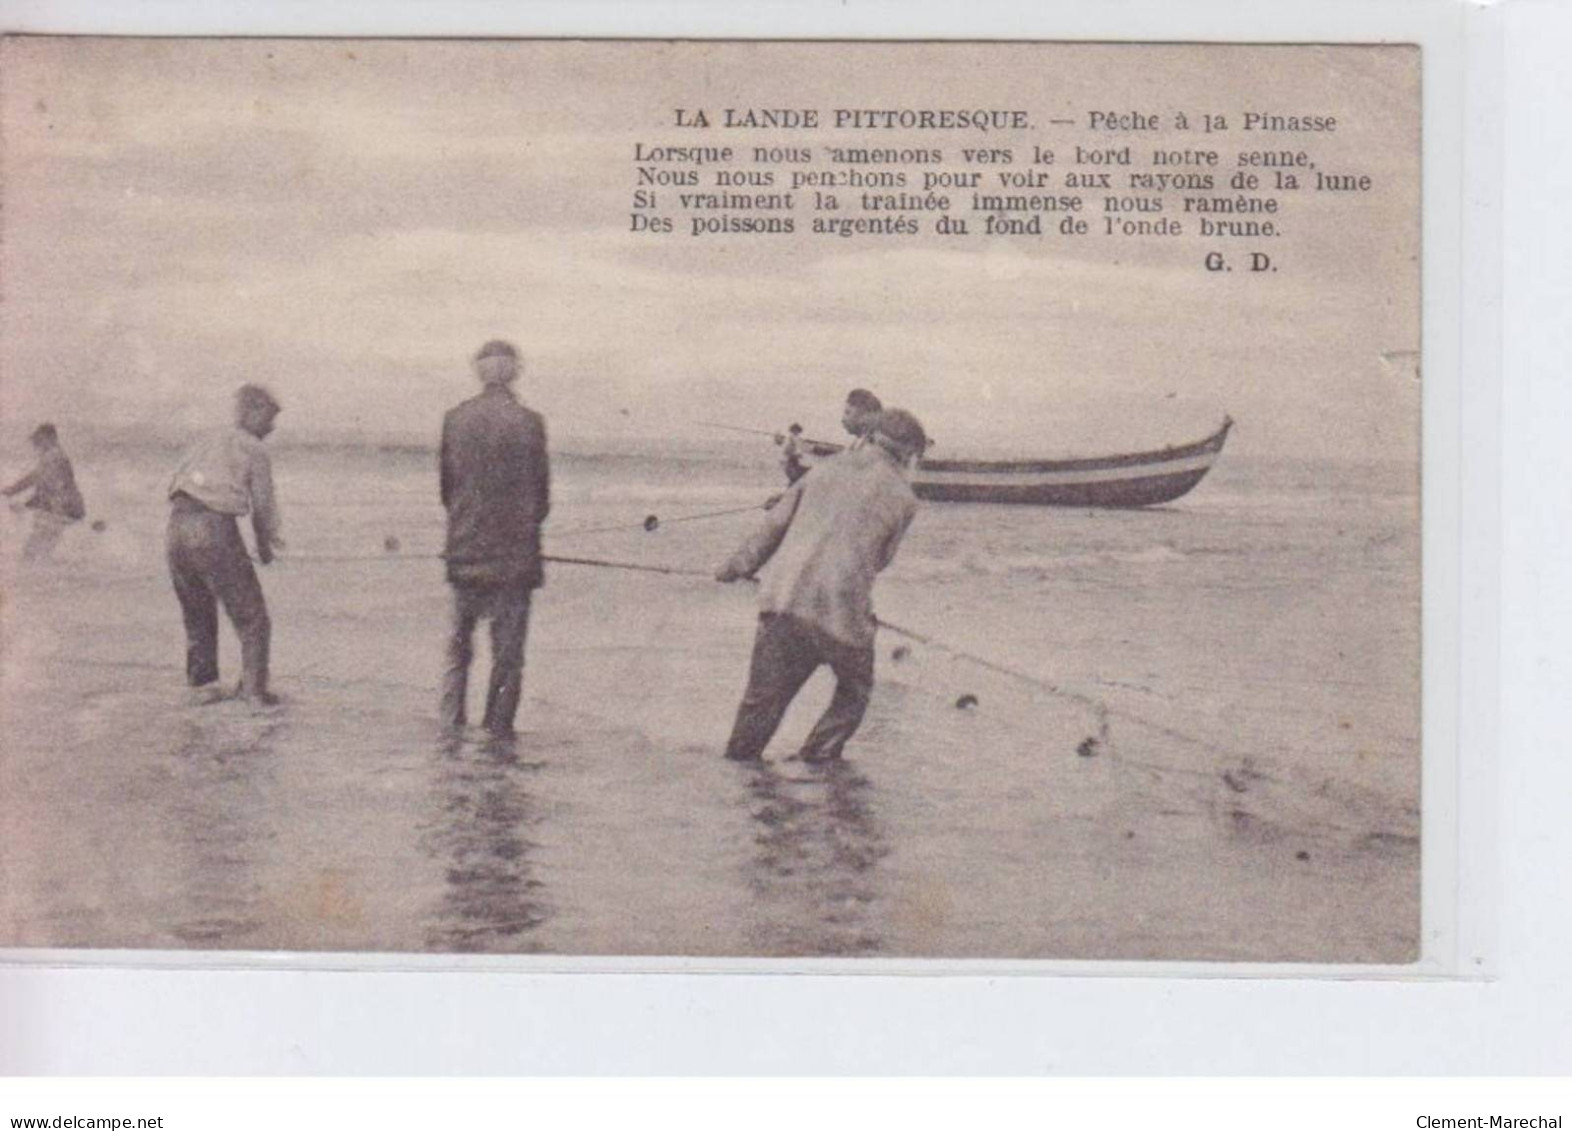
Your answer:
[[[1416,459],[1418,52],[1405,47],[13,39],[0,417],[195,428],[241,381],[296,436],[424,439],[501,337],[553,437],[833,433],[863,385],[954,455],[1198,439]],[[1011,107],[1028,132],[827,143],[1314,148],[1278,272],[1199,238],[630,231],[673,107]],[[1093,109],[1336,115],[1335,135],[1094,138]],[[1052,126],[1049,120],[1075,120]],[[769,143],[781,137],[764,138]],[[802,138],[786,138],[792,143]],[[824,167],[822,164],[817,167]],[[1055,171],[1061,173],[1061,164]],[[797,214],[799,223],[806,212]],[[1094,217],[1096,223],[1096,217]],[[1220,250],[1239,253],[1251,242]]]

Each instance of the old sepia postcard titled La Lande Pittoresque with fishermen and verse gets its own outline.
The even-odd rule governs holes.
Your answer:
[[[1416,961],[1421,69],[5,39],[0,949]]]

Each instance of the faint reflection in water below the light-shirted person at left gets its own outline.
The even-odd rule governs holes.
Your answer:
[[[285,724],[258,716],[181,720],[173,750],[170,826],[185,876],[170,884],[174,938],[193,947],[244,947],[267,927],[263,857],[278,838],[269,813],[275,739]]]

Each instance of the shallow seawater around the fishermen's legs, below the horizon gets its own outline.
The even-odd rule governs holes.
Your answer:
[[[1418,503],[1399,470],[1225,458],[1152,511],[924,507],[880,615],[1030,680],[885,632],[868,722],[822,769],[788,760],[822,676],[769,764],[718,757],[747,587],[578,566],[536,602],[519,739],[445,739],[429,459],[275,466],[280,708],[185,700],[157,458],[83,467],[107,530],[8,580],[5,945],[1415,955]],[[563,456],[549,551],[707,569],[751,518],[671,519],[772,475]],[[336,555],[363,560],[310,560]]]

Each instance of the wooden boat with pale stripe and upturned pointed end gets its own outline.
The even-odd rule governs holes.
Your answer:
[[[1185,494],[1212,470],[1232,417],[1204,440],[1177,448],[1091,459],[923,459],[918,499],[1036,507],[1155,507]]]

